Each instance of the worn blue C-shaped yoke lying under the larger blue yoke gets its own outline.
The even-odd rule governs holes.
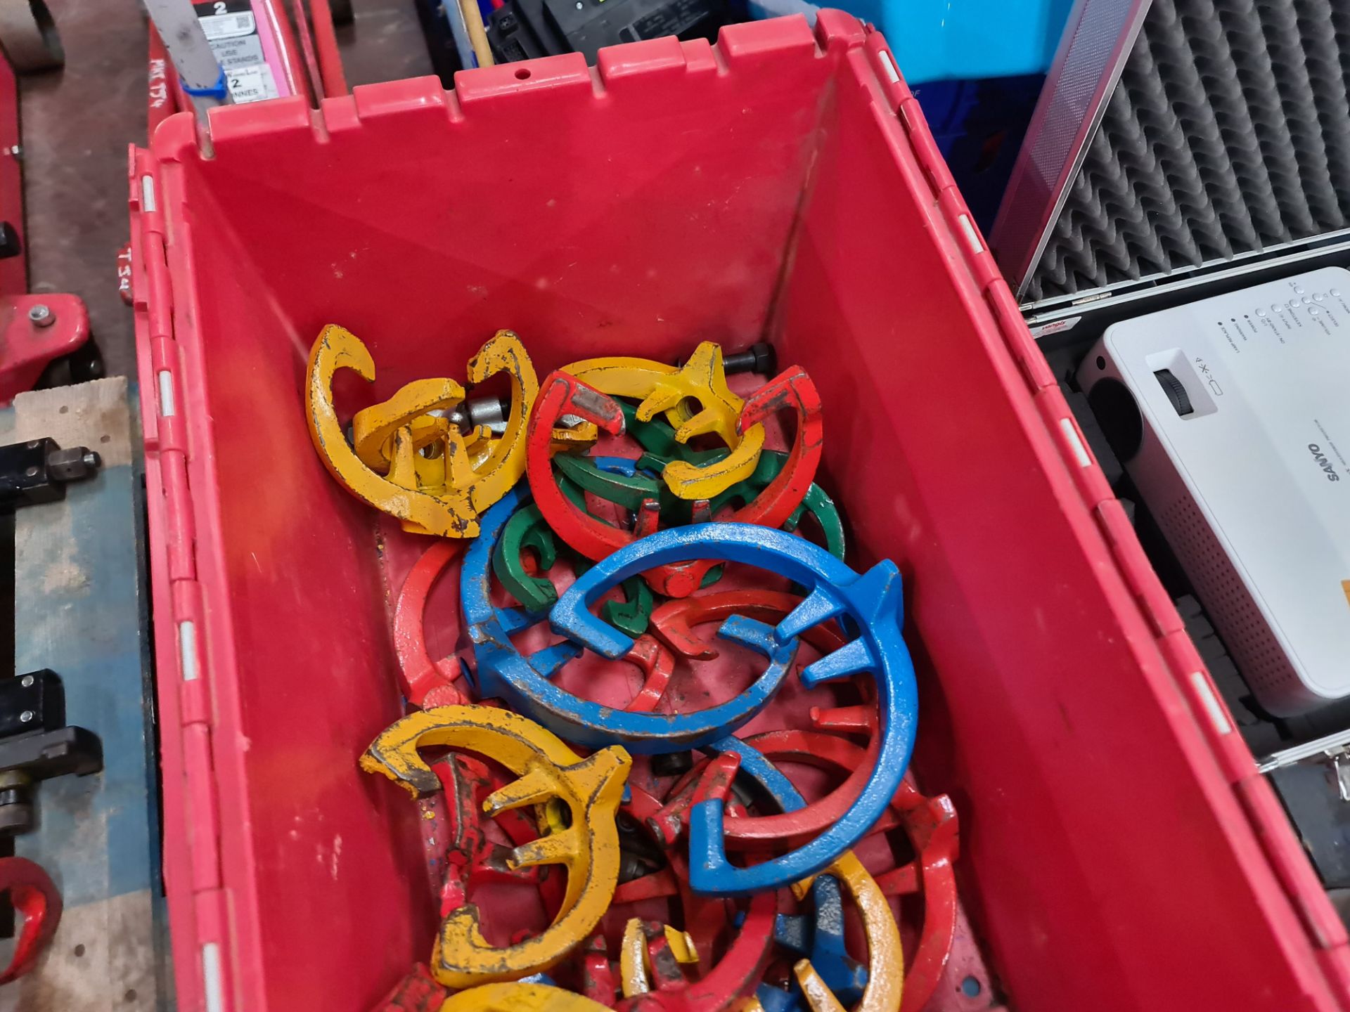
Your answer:
[[[479,521],[482,533],[464,556],[460,605],[474,642],[474,679],[479,698],[505,699],[517,711],[567,741],[591,748],[622,745],[629,752],[644,754],[683,752],[707,745],[741,727],[764,708],[787,676],[796,656],[798,641],[796,637],[778,637],[763,622],[738,615],[729,618],[718,634],[767,657],[768,667],[745,692],[726,703],[691,714],[628,712],[578,699],[552,684],[549,679],[563,664],[578,656],[583,645],[593,646],[586,636],[591,630],[582,630],[567,642],[526,657],[510,642],[510,636],[541,621],[543,615],[521,609],[498,609],[489,596],[497,538],[510,515],[529,501],[528,486],[521,483],[513,488],[483,514]],[[580,580],[587,579],[597,568],[589,569]],[[594,622],[626,644],[618,653],[606,656],[622,657],[632,649],[630,637],[598,618]]]

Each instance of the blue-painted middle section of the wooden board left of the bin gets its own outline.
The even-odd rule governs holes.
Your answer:
[[[131,467],[104,468],[70,484],[63,502],[27,507],[16,519],[15,672],[57,672],[68,723],[103,741],[103,773],[43,781],[40,824],[16,843],[20,855],[55,869],[66,907],[158,885],[134,483]],[[49,519],[69,544],[57,557],[28,557],[22,528]],[[105,857],[89,860],[100,837]]]

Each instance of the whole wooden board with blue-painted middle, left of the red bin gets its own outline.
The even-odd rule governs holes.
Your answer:
[[[96,999],[100,989],[128,1012],[171,1003],[144,493],[130,418],[124,379],[26,393],[0,410],[0,443],[50,434],[104,457],[93,478],[66,487],[63,501],[24,507],[14,521],[15,671],[55,671],[66,719],[103,742],[103,772],[40,783],[38,823],[15,839],[15,851],[47,869],[65,903],[49,958],[15,993],[70,1012],[113,1000]],[[90,980],[100,989],[89,992]],[[11,1000],[0,994],[0,1011],[14,1008]]]

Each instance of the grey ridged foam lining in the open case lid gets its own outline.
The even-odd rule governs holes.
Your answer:
[[[1350,0],[1153,0],[1033,301],[1350,224]]]

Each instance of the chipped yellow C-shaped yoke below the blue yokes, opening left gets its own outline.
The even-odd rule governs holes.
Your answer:
[[[441,923],[432,953],[432,974],[452,988],[510,981],[556,963],[594,931],[618,882],[618,830],[614,812],[632,760],[620,748],[578,757],[555,735],[518,714],[481,706],[446,706],[412,714],[385,730],[360,768],[382,773],[420,797],[441,789],[418,748],[450,746],[489,756],[518,775],[485,802],[489,815],[558,799],[571,811],[571,826],[517,846],[510,868],[563,865],[567,892],[554,923],[540,935],[506,949],[487,943],[478,908],[466,904]]]

